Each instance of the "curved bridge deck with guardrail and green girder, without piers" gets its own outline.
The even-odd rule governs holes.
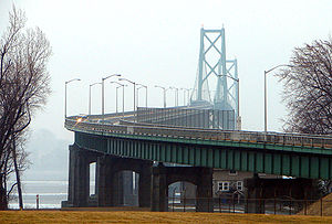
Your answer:
[[[332,138],[135,122],[134,113],[69,117],[75,142],[104,153],[302,178],[332,178]],[[77,121],[79,119],[79,121]],[[81,121],[80,121],[81,120]]]

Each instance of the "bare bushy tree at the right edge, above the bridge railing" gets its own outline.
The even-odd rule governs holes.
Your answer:
[[[278,76],[289,109],[284,130],[332,134],[332,40],[295,47],[290,67]]]

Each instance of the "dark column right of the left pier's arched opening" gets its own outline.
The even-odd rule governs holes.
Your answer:
[[[151,182],[152,182],[152,169],[151,164],[144,166],[139,173],[138,180],[138,206],[151,206]]]

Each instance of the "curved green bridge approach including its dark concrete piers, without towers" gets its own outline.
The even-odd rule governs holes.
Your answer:
[[[304,179],[332,177],[331,136],[220,130],[211,128],[215,122],[198,128],[205,119],[212,119],[208,115],[214,111],[179,113],[183,109],[164,109],[169,119],[163,125],[152,122],[165,117],[165,111],[156,109],[68,117],[65,128],[74,131],[75,141],[70,146],[69,200],[63,206],[116,205],[116,172],[121,170],[139,173],[138,204],[153,211],[167,211],[166,189],[176,181],[197,185],[197,196],[211,196],[214,169]],[[188,116],[191,127],[179,121]],[[148,117],[149,122],[143,122]],[[94,198],[89,195],[91,162],[96,162]],[[165,162],[188,167],[169,168]],[[199,202],[197,211],[210,211],[209,206]]]

